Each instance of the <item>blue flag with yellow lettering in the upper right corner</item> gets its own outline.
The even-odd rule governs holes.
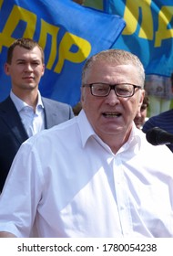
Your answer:
[[[170,77],[173,72],[173,0],[105,0],[109,14],[127,26],[113,48],[136,54],[147,74]]]

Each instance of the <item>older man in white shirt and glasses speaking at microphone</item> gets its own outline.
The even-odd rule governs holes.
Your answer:
[[[172,153],[148,144],[133,122],[144,80],[140,60],[124,50],[86,61],[83,110],[15,156],[0,197],[1,237],[29,237],[34,223],[39,237],[173,237]]]

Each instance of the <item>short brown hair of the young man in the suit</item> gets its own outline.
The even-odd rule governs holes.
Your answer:
[[[11,64],[12,62],[12,58],[13,58],[13,52],[14,52],[14,48],[16,46],[19,46],[20,48],[27,48],[27,49],[33,49],[33,48],[39,48],[40,51],[41,51],[41,56],[42,56],[42,62],[44,63],[45,62],[45,54],[44,54],[44,51],[43,51],[43,48],[41,48],[39,46],[39,44],[34,41],[33,39],[31,38],[18,38],[16,39],[12,45],[8,48],[7,50],[7,58],[6,58],[6,62],[8,64]]]

